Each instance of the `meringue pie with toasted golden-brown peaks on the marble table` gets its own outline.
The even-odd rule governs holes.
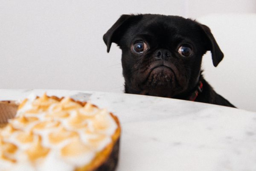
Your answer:
[[[0,170],[114,170],[120,130],[116,116],[89,102],[26,98],[0,129]]]

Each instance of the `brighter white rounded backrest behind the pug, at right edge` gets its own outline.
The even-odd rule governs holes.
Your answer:
[[[236,107],[256,111],[256,13],[212,14],[198,20],[208,25],[224,53],[214,67],[211,53],[203,57],[204,76]]]

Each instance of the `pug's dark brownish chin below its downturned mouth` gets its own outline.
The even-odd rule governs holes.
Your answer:
[[[172,97],[176,91],[175,73],[166,66],[156,67],[149,73],[143,87],[146,95]]]

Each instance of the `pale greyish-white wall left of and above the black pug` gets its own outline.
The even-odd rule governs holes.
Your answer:
[[[121,50],[102,40],[121,14],[252,12],[255,0],[0,0],[0,88],[122,92]]]

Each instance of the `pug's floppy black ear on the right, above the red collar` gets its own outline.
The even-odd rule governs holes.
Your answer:
[[[219,48],[209,27],[202,24],[200,24],[200,26],[203,29],[203,32],[207,40],[207,50],[210,50],[212,53],[212,63],[215,67],[217,67],[221,60],[223,59],[224,54],[221,52],[221,49]]]

